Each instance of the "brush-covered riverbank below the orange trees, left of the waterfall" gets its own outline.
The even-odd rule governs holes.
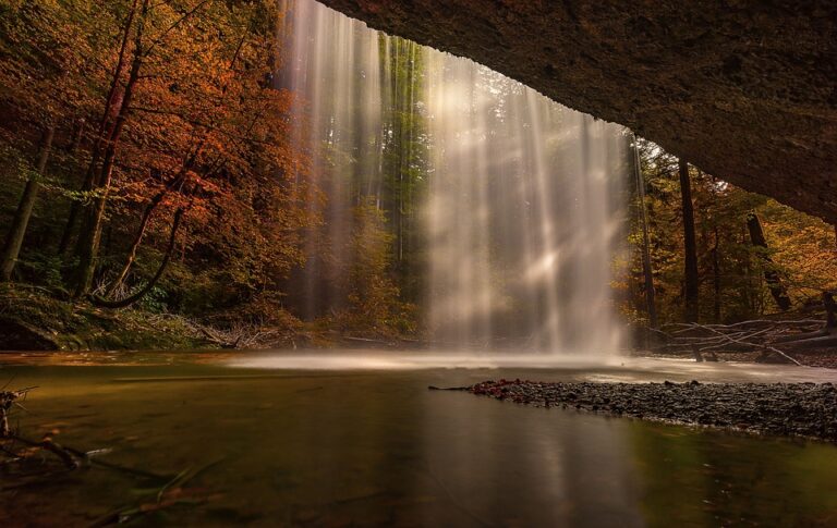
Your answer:
[[[49,290],[0,284],[0,351],[194,351],[414,347],[415,341],[303,322],[287,315],[258,324],[235,315],[190,318],[143,308],[101,308]]]

